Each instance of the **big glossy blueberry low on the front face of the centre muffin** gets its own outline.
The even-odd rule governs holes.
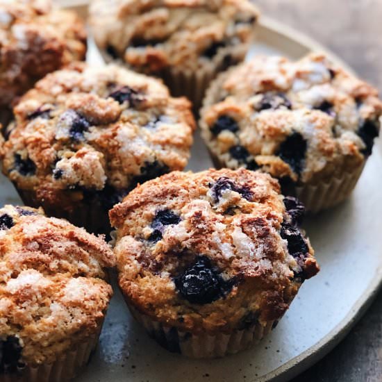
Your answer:
[[[175,279],[175,285],[192,304],[210,304],[229,293],[233,283],[222,279],[208,257],[199,256]]]

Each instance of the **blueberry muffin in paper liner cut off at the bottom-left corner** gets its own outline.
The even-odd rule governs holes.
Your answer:
[[[103,238],[28,207],[0,208],[0,380],[67,381],[88,362],[112,289]]]

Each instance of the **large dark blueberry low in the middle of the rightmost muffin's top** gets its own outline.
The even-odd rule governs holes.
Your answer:
[[[288,163],[296,174],[301,174],[306,156],[306,140],[300,133],[292,133],[281,143],[277,155]]]

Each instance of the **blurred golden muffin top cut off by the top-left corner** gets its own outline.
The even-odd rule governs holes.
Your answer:
[[[85,58],[85,28],[49,0],[0,0],[0,51],[0,106],[9,106],[45,74]]]

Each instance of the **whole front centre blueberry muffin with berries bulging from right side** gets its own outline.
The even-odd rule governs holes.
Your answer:
[[[318,272],[304,206],[268,174],[172,172],[110,210],[119,286],[160,344],[192,358],[258,342]]]

